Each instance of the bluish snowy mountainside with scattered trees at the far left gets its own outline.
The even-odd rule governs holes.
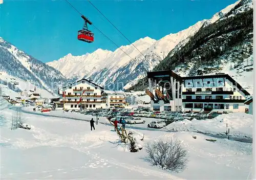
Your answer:
[[[41,89],[56,93],[67,78],[58,70],[18,50],[0,37],[0,72],[28,81]]]

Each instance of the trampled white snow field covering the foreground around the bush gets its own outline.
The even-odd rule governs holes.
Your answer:
[[[8,104],[2,104],[6,107]],[[9,106],[10,108],[10,106]],[[0,111],[7,123],[1,127],[3,179],[247,179],[252,166],[252,144],[217,139],[195,132],[136,130],[144,144],[156,138],[177,138],[188,150],[188,164],[170,173],[118,145],[113,127],[87,121],[22,113],[31,130],[10,130],[14,108]],[[3,120],[3,119],[2,119]],[[1,120],[1,121],[2,121]],[[197,139],[192,138],[196,135]]]

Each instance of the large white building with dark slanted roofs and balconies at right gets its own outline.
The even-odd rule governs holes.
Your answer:
[[[147,77],[151,108],[160,111],[244,112],[244,102],[250,95],[227,74],[180,77],[167,70],[148,72]]]

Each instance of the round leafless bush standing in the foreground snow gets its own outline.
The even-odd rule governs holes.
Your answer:
[[[146,146],[146,161],[153,166],[160,166],[170,171],[180,171],[187,163],[187,150],[183,149],[178,140],[158,140]]]

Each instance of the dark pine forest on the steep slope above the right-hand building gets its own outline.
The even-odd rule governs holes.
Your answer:
[[[240,7],[240,5],[237,5],[237,7]],[[236,10],[237,7],[234,7],[231,11]],[[233,51],[245,42],[251,41],[252,32],[253,9],[231,17],[225,15],[221,20],[201,28],[194,36],[190,36],[183,47],[170,51],[153,71],[174,70],[177,65],[187,64],[188,62],[196,63],[195,67],[218,64],[218,57]],[[249,48],[249,54],[252,54],[252,47]],[[144,78],[129,90],[143,90],[147,85],[147,79]]]

